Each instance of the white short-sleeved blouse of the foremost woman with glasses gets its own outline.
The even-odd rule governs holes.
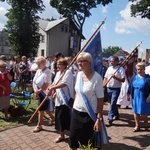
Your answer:
[[[75,97],[73,108],[80,112],[87,112],[84,100],[81,97],[80,89],[79,89],[81,73],[82,72],[80,71],[78,72],[77,75],[77,80],[75,85],[76,97]],[[103,80],[102,77],[97,72],[94,73],[90,81],[87,82],[83,81],[83,93],[88,98],[88,101],[93,111],[97,113],[97,98],[104,97]]]

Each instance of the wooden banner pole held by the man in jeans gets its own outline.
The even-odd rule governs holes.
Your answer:
[[[113,73],[115,74],[116,72],[119,71],[120,67],[124,67],[126,63],[129,61],[129,59],[132,57],[132,55],[136,52],[137,48],[142,44],[142,41],[137,44],[137,46],[132,50],[132,52],[127,56],[127,58],[121,63],[121,65],[118,67],[118,69]],[[112,79],[112,76],[107,80],[105,85],[103,87],[106,87],[108,82]]]

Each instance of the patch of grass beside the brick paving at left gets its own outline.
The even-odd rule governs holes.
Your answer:
[[[21,97],[19,97],[21,99]],[[1,111],[0,112],[0,131],[1,130],[6,130],[8,128],[16,127],[19,125],[27,124],[29,118],[32,116],[34,111],[37,108],[37,100],[31,100],[31,103],[29,104],[27,109],[23,109],[23,115],[18,116],[18,117],[10,117],[8,120],[4,119],[4,113]],[[14,105],[12,100],[10,101],[11,105]],[[37,120],[37,116],[33,118],[33,121]]]

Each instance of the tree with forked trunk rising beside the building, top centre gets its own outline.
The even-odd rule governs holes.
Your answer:
[[[83,25],[86,17],[91,15],[90,10],[96,8],[98,4],[105,6],[110,2],[112,0],[50,0],[50,5],[55,7],[63,17],[72,19],[77,25],[80,31],[80,49]]]

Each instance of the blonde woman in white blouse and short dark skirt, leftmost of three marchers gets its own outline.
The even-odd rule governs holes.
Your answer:
[[[38,65],[38,70],[33,78],[33,90],[34,94],[38,98],[38,105],[43,101],[46,96],[46,89],[51,84],[51,71],[49,68],[46,67],[46,59],[43,56],[39,56],[35,60],[36,64]],[[42,130],[42,121],[44,117],[44,111],[50,116],[52,121],[54,121],[54,116],[51,114],[53,111],[52,101],[47,99],[45,103],[39,109],[38,114],[38,124],[33,130],[33,132],[39,132]]]

